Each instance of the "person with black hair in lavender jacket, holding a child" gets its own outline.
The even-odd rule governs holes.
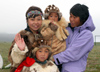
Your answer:
[[[53,57],[57,65],[62,64],[62,72],[84,72],[88,54],[94,46],[92,31],[95,26],[86,5],[75,4],[70,9],[69,20],[67,48]]]

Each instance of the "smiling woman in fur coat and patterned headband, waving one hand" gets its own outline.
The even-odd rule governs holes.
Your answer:
[[[31,52],[32,44],[41,36],[38,30],[42,25],[42,16],[42,10],[39,7],[31,6],[27,10],[27,28],[16,34],[9,51],[10,72],[14,72],[19,64],[29,56],[27,53]]]

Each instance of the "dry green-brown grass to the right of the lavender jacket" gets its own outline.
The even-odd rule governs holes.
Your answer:
[[[85,72],[100,72],[100,43],[89,53]]]

